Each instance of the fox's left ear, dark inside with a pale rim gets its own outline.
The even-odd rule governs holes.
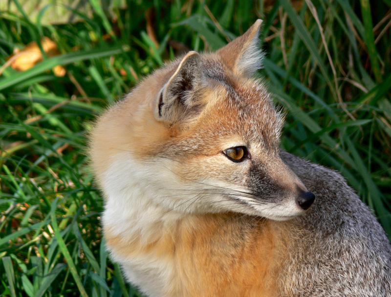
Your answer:
[[[180,61],[172,77],[158,94],[155,118],[170,124],[197,110],[195,92],[202,85],[201,56],[194,51]]]

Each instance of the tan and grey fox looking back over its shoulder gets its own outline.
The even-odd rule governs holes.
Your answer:
[[[148,297],[390,297],[391,245],[336,171],[280,148],[261,20],[95,122],[107,249]]]

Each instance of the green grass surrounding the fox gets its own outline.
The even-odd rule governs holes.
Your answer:
[[[141,296],[106,252],[86,133],[164,61],[217,49],[257,18],[260,75],[288,114],[282,146],[339,170],[391,235],[390,0],[130,0],[111,14],[90,0],[92,17],[59,25],[11,2],[0,65],[43,36],[59,55],[23,72],[0,66],[2,296]]]

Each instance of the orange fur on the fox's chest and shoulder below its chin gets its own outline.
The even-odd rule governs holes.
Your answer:
[[[145,243],[105,237],[124,257],[165,257],[176,277],[167,296],[276,297],[277,275],[286,254],[284,223],[236,214],[189,216],[161,237]],[[254,257],[257,255],[257,257]]]

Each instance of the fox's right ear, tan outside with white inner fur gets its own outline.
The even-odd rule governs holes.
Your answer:
[[[246,33],[217,51],[225,65],[237,75],[251,77],[262,67],[263,53],[259,47],[261,24],[262,20],[256,20]]]

